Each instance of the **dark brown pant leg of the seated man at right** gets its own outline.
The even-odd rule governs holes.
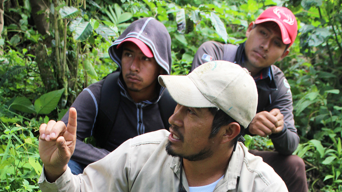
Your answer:
[[[250,150],[253,155],[261,156],[284,180],[289,192],[307,192],[304,161],[297,155],[281,155],[274,151]]]

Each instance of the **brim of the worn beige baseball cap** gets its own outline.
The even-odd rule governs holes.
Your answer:
[[[187,76],[160,75],[158,81],[166,87],[171,97],[187,107],[217,107],[198,90],[194,82]]]

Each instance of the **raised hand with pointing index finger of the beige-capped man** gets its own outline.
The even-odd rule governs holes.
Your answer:
[[[69,110],[68,125],[53,120],[39,127],[39,155],[44,164],[45,177],[54,182],[66,170],[76,144],[77,112]]]

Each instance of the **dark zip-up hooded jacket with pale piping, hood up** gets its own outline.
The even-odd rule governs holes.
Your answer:
[[[107,141],[102,149],[86,144],[83,140],[94,136],[96,140],[105,138],[96,132],[102,127],[98,126],[97,115],[100,107],[101,88],[104,80],[89,85],[79,94],[71,107],[77,110],[77,140],[76,148],[71,159],[88,165],[102,159],[111,151],[116,149],[124,141],[147,132],[166,128],[162,122],[158,101],[164,93],[164,87],[157,83],[159,97],[153,100],[145,100],[139,103],[133,101],[126,91],[126,84],[121,74],[122,47],[117,45],[126,38],[137,38],[143,41],[152,50],[157,63],[170,74],[171,70],[171,38],[166,27],[156,19],[142,18],[134,21],[125,29],[120,37],[109,47],[110,58],[119,67],[120,76],[118,84],[121,90],[116,120],[111,132],[106,135]],[[62,121],[67,124],[69,111],[63,116]]]

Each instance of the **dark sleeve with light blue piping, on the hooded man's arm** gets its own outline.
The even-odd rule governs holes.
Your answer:
[[[71,105],[71,107],[75,107],[77,110],[77,139],[75,151],[71,159],[85,165],[100,160],[109,154],[109,151],[105,149],[98,149],[91,144],[83,142],[93,132],[100,103],[101,87],[102,81],[88,86],[77,96],[73,105]],[[69,110],[62,118],[66,125],[68,124],[68,116]]]

